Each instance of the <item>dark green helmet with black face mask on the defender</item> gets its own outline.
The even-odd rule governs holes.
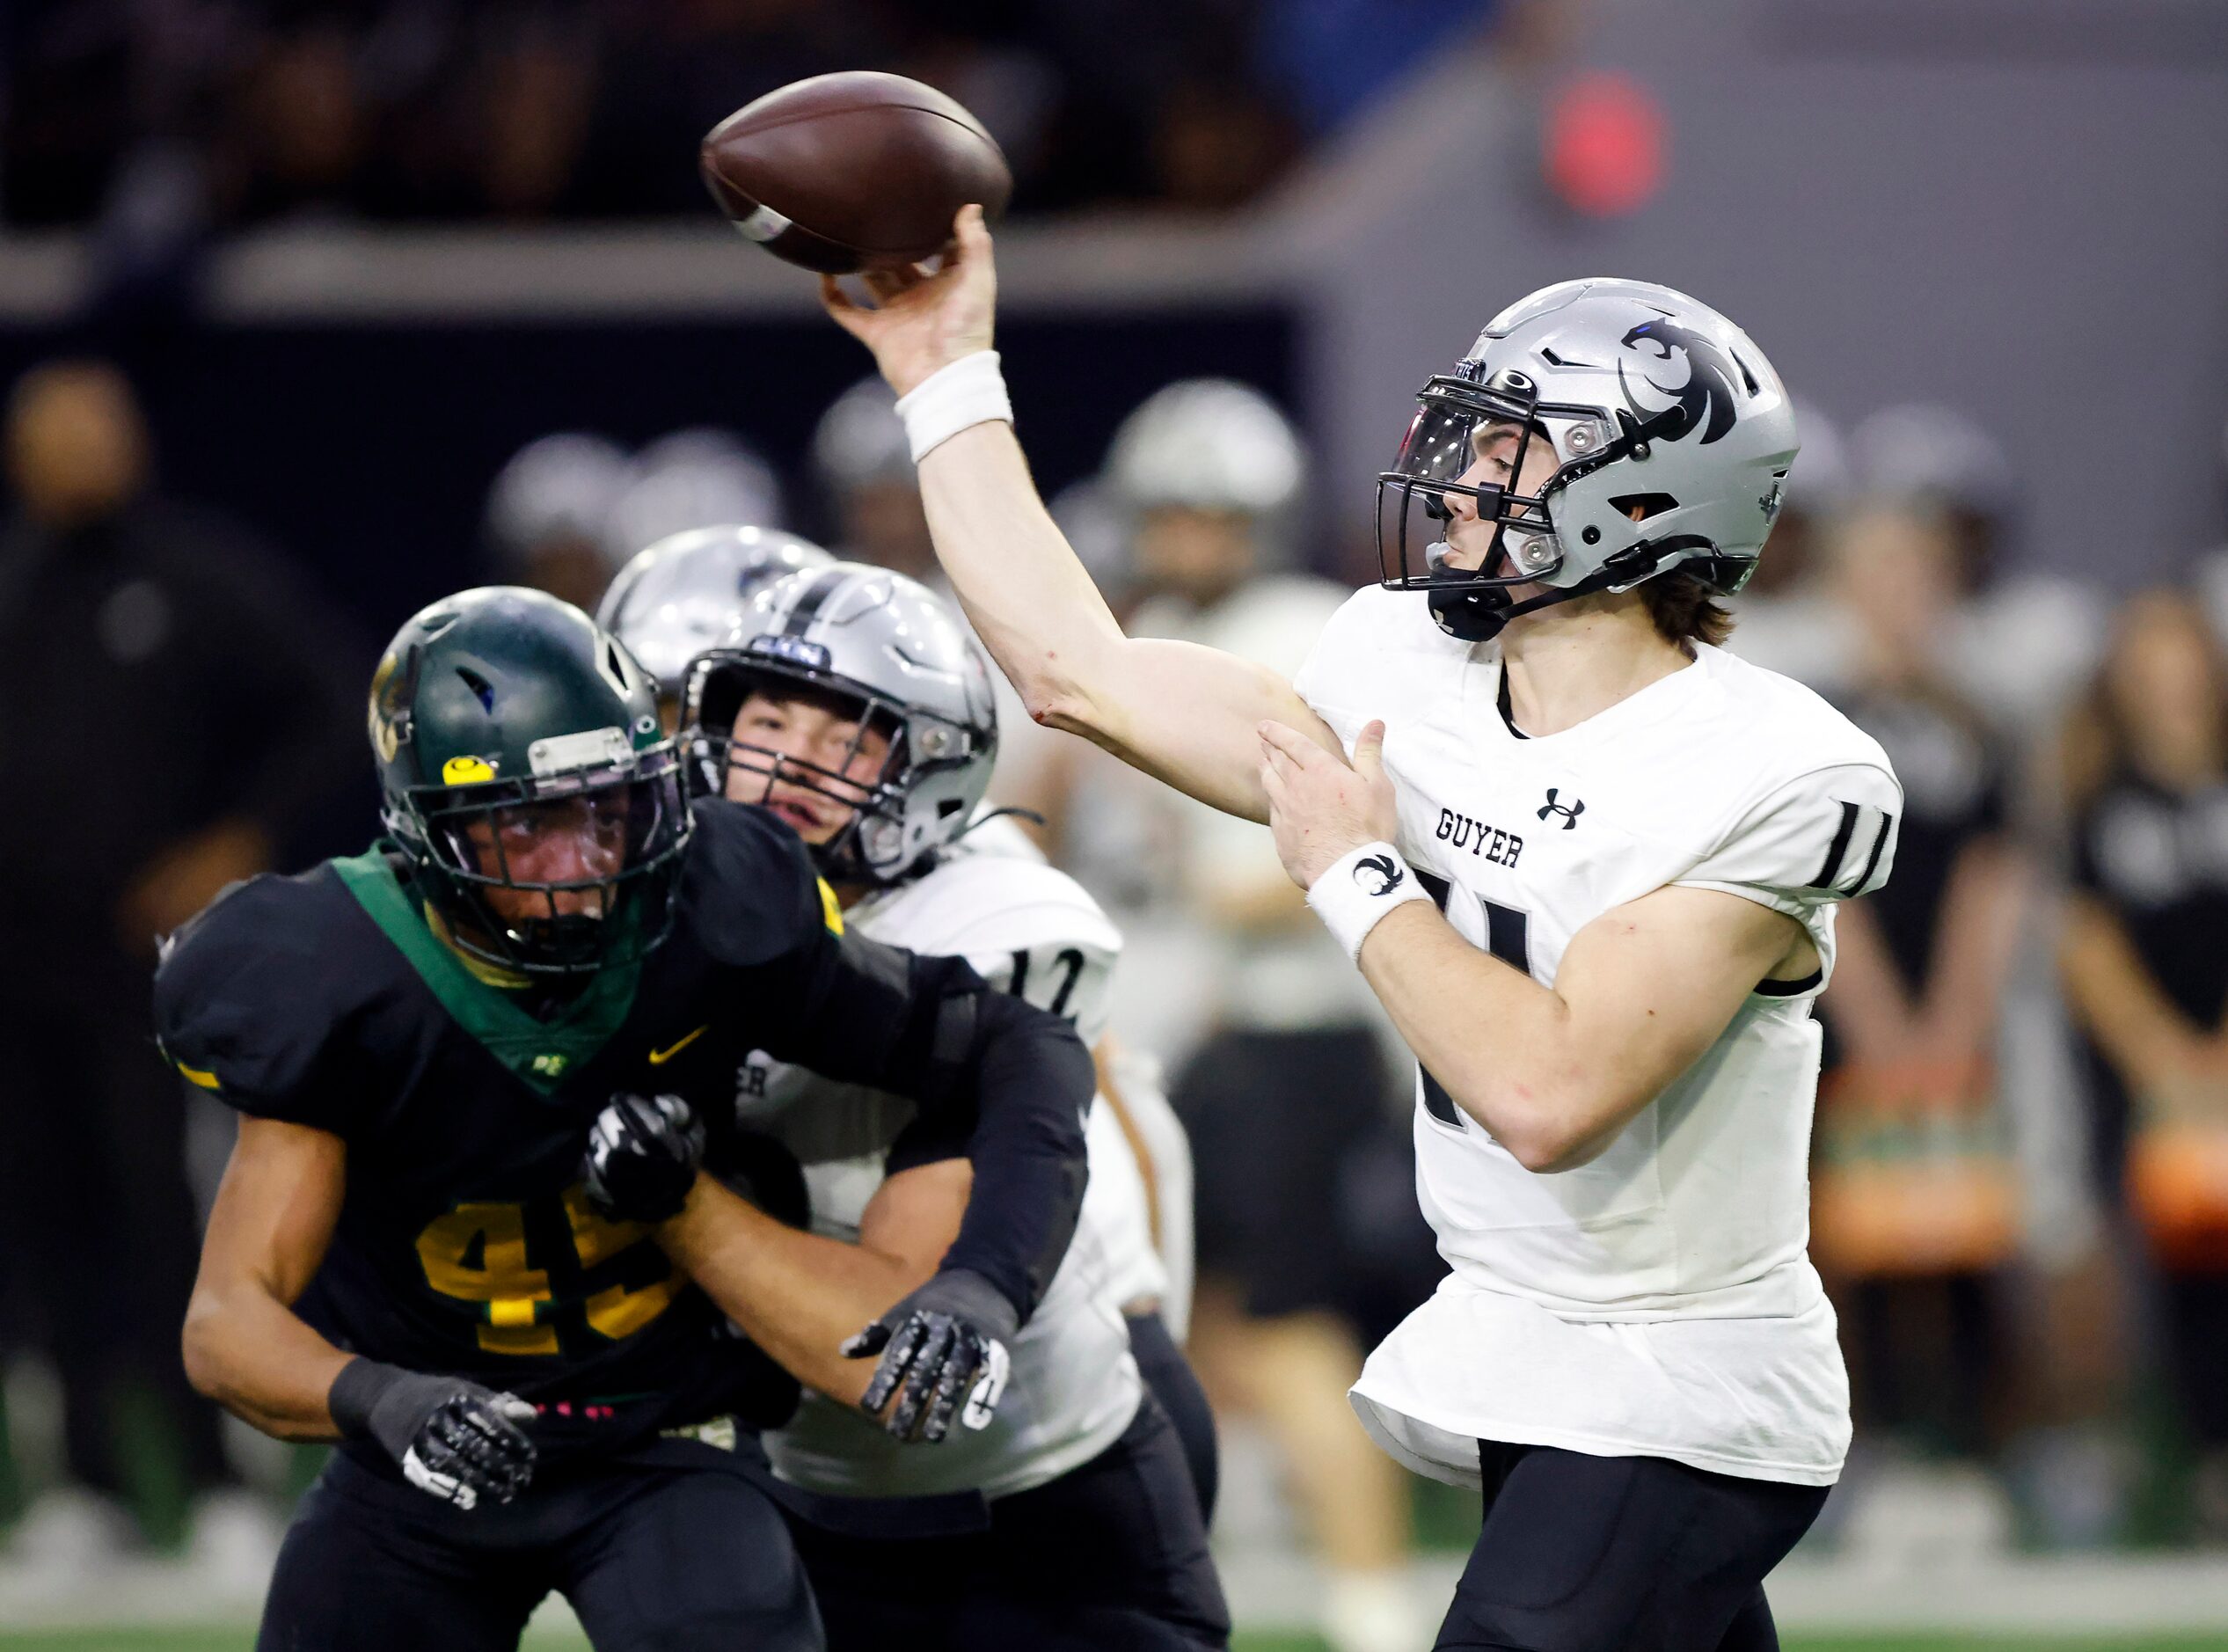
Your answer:
[[[463,952],[535,976],[639,959],[673,925],[688,807],[657,684],[557,597],[461,591],[372,676],[381,814]]]

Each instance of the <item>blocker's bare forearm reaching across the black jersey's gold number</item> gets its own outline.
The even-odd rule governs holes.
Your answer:
[[[934,1262],[775,1222],[709,1175],[657,1244],[789,1376],[847,1405],[867,1391],[873,1362],[847,1360],[844,1340],[934,1273]]]

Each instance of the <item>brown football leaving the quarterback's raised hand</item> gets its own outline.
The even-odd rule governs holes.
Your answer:
[[[704,138],[704,183],[751,241],[827,274],[931,259],[969,201],[998,216],[1014,174],[936,87],[864,69],[746,103]]]

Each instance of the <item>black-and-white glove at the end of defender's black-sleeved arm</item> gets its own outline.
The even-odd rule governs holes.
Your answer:
[[[882,1355],[860,1409],[880,1416],[902,1382],[898,1409],[882,1422],[896,1438],[942,1440],[960,1396],[967,1396],[960,1422],[987,1429],[1005,1398],[1012,1367],[1005,1347],[1018,1327],[1020,1313],[980,1273],[938,1273],[842,1344],[849,1360]]]

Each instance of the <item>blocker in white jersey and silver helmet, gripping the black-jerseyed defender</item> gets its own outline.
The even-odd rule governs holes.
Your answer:
[[[996,990],[1103,1041],[1121,934],[1012,823],[971,825],[998,747],[989,664],[931,591],[864,564],[766,586],[691,664],[682,740],[726,796],[762,803],[813,845],[849,930],[891,945],[938,936]],[[934,1271],[971,1166],[958,1157],[965,1144],[925,1135],[913,1101],[753,1052],[735,1117],[800,1166],[820,1235],[920,1277]],[[1185,1442],[1132,1358],[1136,1342],[1170,1405],[1212,1427],[1152,1309],[1167,1282],[1114,1106],[1094,1106],[1087,1141],[1081,1224],[1036,1313],[1007,1338],[994,1416],[969,1416],[922,1449],[844,1398],[809,1391],[791,1425],[764,1436],[775,1471],[815,1494],[989,1503],[987,1532],[969,1538],[800,1529],[836,1652],[896,1636],[969,1650],[1228,1636]],[[758,1333],[746,1309],[762,1286],[740,1273],[749,1244],[688,1264]],[[729,1269],[733,1293],[722,1291]],[[827,1376],[833,1349],[769,1351],[809,1389],[827,1387],[815,1373]],[[931,1592],[949,1610],[925,1621]]]

